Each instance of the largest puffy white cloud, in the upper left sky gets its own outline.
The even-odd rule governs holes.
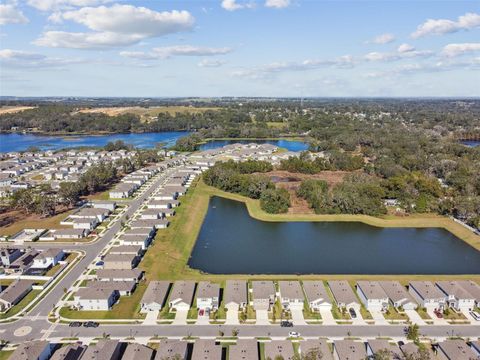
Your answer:
[[[47,31],[34,42],[36,45],[76,49],[125,46],[150,37],[191,30],[195,21],[188,11],[157,12],[119,4],[85,7],[52,16],[56,22],[70,20],[93,32]]]

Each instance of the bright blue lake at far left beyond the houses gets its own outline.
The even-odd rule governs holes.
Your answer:
[[[69,135],[49,136],[33,134],[0,134],[0,152],[25,151],[31,146],[41,150],[59,150],[80,146],[105,146],[110,141],[122,140],[139,148],[152,148],[157,143],[167,146],[175,144],[178,138],[188,135],[184,131],[141,133],[141,134],[110,134],[110,135]]]

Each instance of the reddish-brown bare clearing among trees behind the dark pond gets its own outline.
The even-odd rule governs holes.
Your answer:
[[[297,189],[300,186],[302,180],[305,179],[317,179],[325,180],[328,186],[332,188],[336,184],[343,181],[345,175],[349,174],[348,171],[322,171],[319,174],[301,174],[292,173],[284,170],[275,170],[267,173],[269,177],[275,177],[280,179],[288,179],[288,182],[276,182],[276,186],[279,188],[287,189],[290,193],[291,205],[288,209],[289,214],[313,214],[313,210],[308,206],[308,203],[297,196]]]

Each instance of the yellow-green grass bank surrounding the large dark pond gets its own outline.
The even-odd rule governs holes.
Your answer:
[[[190,253],[200,231],[208,209],[211,196],[222,196],[245,202],[249,214],[262,221],[360,221],[377,227],[441,227],[452,232],[473,247],[480,249],[480,238],[454,221],[437,215],[415,215],[406,218],[385,216],[375,218],[362,215],[315,215],[315,214],[281,214],[270,215],[260,209],[258,200],[230,194],[205,185],[201,180],[182,197],[182,205],[177,208],[177,215],[171,219],[170,226],[157,233],[151,248],[140,263],[147,280],[212,280],[225,279],[360,279],[385,280],[395,279],[403,284],[410,280],[472,279],[480,281],[480,275],[211,275],[187,266]]]

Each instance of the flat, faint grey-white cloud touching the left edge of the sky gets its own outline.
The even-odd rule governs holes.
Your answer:
[[[38,53],[22,50],[3,49],[0,50],[0,63],[10,67],[20,68],[44,68],[62,67],[71,64],[80,64],[81,59],[65,59],[48,57]]]

